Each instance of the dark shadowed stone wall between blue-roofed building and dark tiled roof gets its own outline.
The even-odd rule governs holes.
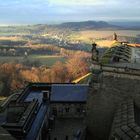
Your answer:
[[[139,96],[139,79],[103,75],[101,88],[91,88],[88,97],[88,140],[108,140],[117,106]]]

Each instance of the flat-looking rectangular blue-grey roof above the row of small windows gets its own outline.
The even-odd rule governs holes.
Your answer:
[[[54,84],[51,90],[51,102],[86,102],[88,85]]]

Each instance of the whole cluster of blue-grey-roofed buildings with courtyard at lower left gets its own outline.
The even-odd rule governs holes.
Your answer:
[[[0,139],[85,140],[88,85],[29,84],[1,105]]]

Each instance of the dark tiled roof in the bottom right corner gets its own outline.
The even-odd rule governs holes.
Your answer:
[[[140,140],[140,127],[135,122],[134,103],[123,102],[114,118],[110,140]]]

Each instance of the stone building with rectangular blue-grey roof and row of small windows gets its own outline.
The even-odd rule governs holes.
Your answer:
[[[87,85],[53,85],[50,106],[56,117],[79,118],[86,114]]]

